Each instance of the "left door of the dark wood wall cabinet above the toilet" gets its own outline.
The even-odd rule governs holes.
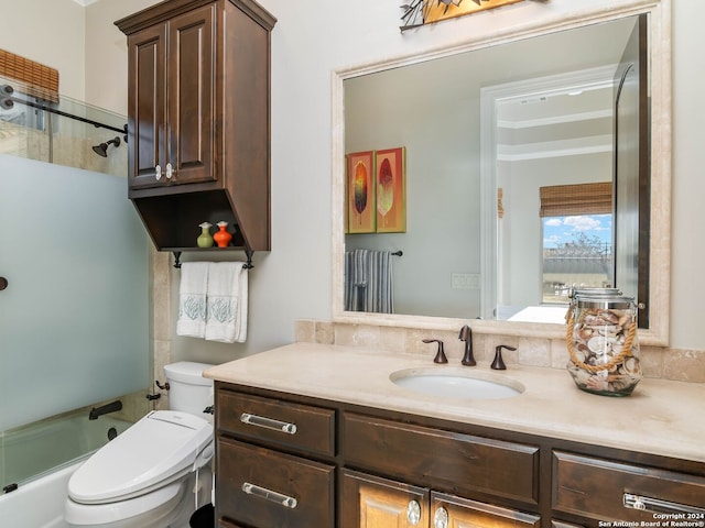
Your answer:
[[[128,37],[128,150],[130,189],[162,185],[155,177],[166,158],[166,26]]]

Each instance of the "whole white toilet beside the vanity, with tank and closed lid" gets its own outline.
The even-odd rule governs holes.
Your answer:
[[[186,528],[210,502],[213,365],[164,366],[170,410],[155,410],[96,451],[68,482],[69,527]]]

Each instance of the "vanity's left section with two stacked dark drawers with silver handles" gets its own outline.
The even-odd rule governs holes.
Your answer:
[[[221,526],[335,526],[335,410],[217,388]]]

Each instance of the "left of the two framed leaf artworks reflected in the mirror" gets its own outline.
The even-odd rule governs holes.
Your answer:
[[[347,155],[347,232],[373,233],[375,207],[375,153],[355,152]]]

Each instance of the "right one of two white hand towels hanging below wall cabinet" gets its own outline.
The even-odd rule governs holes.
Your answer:
[[[213,262],[208,268],[206,340],[247,339],[248,271],[243,262]]]

